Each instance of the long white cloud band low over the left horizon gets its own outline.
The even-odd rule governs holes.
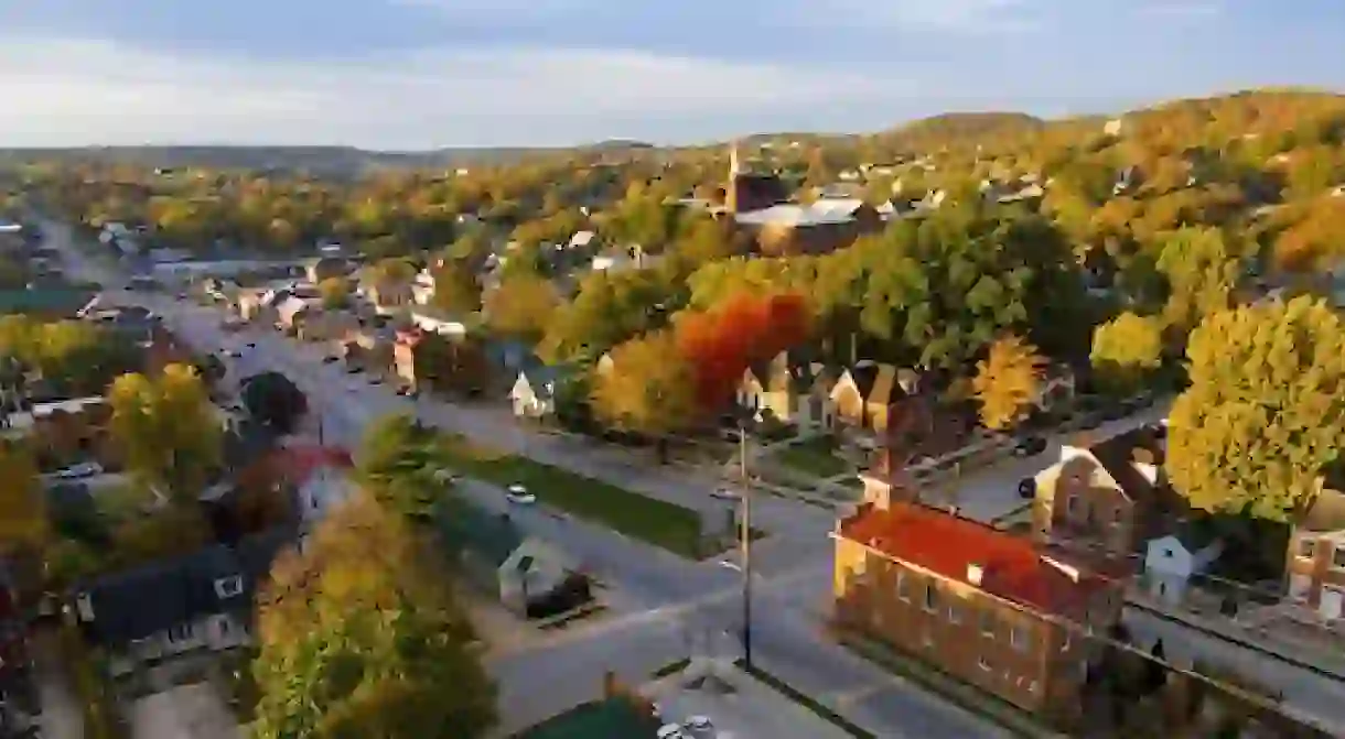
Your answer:
[[[855,73],[639,51],[500,47],[262,62],[0,38],[0,95],[16,101],[0,105],[0,145],[686,140],[729,133],[714,125],[734,117],[901,90]]]

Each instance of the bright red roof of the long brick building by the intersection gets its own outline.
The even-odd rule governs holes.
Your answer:
[[[981,590],[1053,615],[1081,615],[1088,595],[1106,584],[1087,572],[1075,582],[1026,539],[919,504],[862,508],[841,523],[839,533],[963,583],[967,567],[978,566]]]

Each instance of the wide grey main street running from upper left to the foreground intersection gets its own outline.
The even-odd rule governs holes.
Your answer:
[[[656,497],[667,497],[701,509],[724,504],[709,497],[713,482],[687,481],[687,473],[650,473],[631,464],[615,464],[573,439],[555,439],[521,431],[506,414],[464,408],[437,402],[410,403],[387,388],[359,383],[336,367],[323,364],[316,348],[300,348],[274,332],[249,331],[242,337],[219,331],[217,312],[179,302],[167,296],[126,293],[118,275],[91,262],[69,242],[58,224],[47,226],[48,238],[67,255],[67,271],[106,285],[112,301],[145,305],[164,317],[167,327],[198,351],[253,343],[235,360],[239,375],[280,370],[295,379],[312,399],[313,415],[321,418],[324,435],[336,443],[354,445],[366,423],[393,410],[413,410],[424,421],[463,431],[496,446],[526,451],[543,462],[601,477]],[[612,477],[619,477],[612,480]],[[628,477],[628,480],[623,478]],[[702,488],[702,484],[705,485]],[[503,507],[503,494],[488,485],[472,484],[468,494],[490,507]],[[845,712],[882,736],[998,738],[1006,732],[935,696],[890,677],[880,668],[830,644],[820,636],[812,607],[829,587],[830,551],[826,532],[831,516],[810,507],[761,498],[756,523],[788,536],[796,546],[776,547],[777,556],[764,559],[757,583],[753,617],[753,656],[765,669],[823,700],[854,691],[869,697]],[[720,634],[732,649],[740,618],[738,575],[716,562],[693,563],[668,552],[625,540],[584,521],[558,517],[538,507],[515,511],[519,524],[562,550],[572,552],[613,586],[613,618],[593,627],[565,632],[542,652],[519,653],[492,664],[503,687],[506,713],[535,719],[590,697],[605,669],[631,677],[687,653],[687,634]],[[703,641],[703,638],[702,638]]]

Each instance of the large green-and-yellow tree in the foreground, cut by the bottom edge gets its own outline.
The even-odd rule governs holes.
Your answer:
[[[334,511],[260,598],[252,735],[472,739],[495,688],[441,556],[366,493]]]

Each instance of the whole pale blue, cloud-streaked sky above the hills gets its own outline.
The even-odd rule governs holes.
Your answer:
[[[0,0],[0,146],[658,144],[1345,90],[1340,0]]]

